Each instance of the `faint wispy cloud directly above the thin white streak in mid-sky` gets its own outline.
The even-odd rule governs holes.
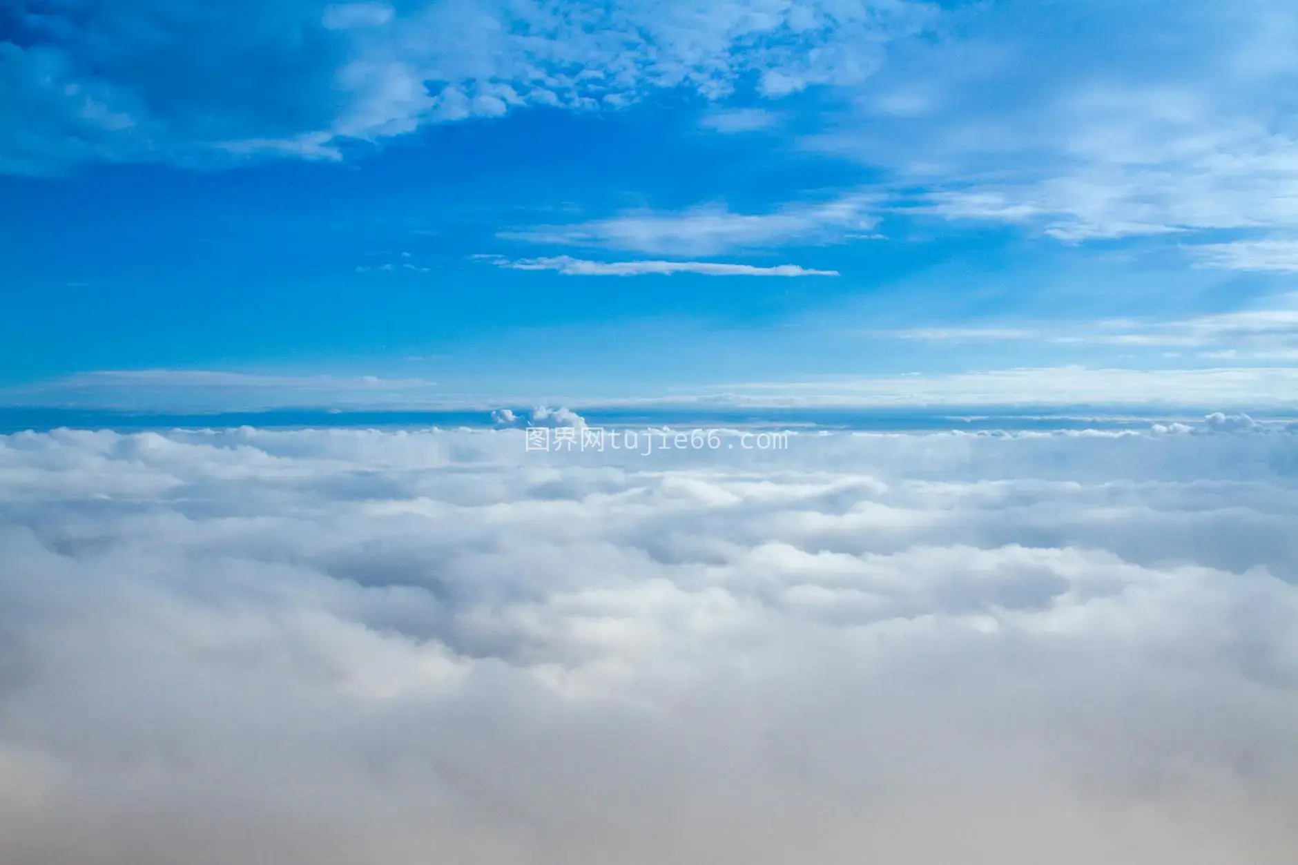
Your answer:
[[[632,212],[576,225],[502,231],[506,240],[630,249],[649,255],[719,255],[732,249],[839,240],[872,230],[879,197],[850,194],[824,203],[789,204],[771,213],[735,213],[704,205],[676,213]]]

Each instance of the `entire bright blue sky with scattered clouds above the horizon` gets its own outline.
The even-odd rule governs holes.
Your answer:
[[[0,399],[1293,405],[1298,6],[17,0]]]

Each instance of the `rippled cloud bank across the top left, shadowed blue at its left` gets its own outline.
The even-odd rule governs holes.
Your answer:
[[[0,10],[0,170],[86,158],[339,158],[347,140],[526,105],[618,108],[854,84],[925,4],[48,4]]]

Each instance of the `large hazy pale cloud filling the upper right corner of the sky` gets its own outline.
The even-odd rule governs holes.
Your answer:
[[[902,209],[1066,242],[1292,232],[1295,29],[1282,0],[953,10],[806,144],[893,171]]]

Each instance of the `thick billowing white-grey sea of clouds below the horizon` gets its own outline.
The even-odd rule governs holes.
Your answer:
[[[1298,432],[523,436],[0,436],[0,861],[1294,861]]]

